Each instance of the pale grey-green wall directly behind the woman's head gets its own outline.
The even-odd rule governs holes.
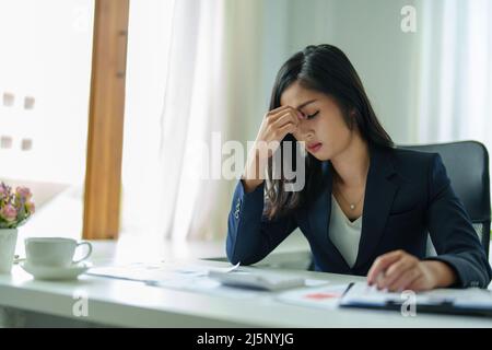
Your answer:
[[[267,109],[280,66],[309,44],[340,47],[361,75],[379,119],[396,142],[415,141],[415,89],[420,35],[402,33],[400,10],[419,1],[268,0],[263,3],[261,98]],[[254,137],[258,113],[248,132]]]

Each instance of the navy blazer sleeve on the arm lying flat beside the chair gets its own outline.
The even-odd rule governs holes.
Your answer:
[[[426,219],[437,256],[426,259],[450,266],[458,278],[455,287],[487,288],[492,277],[488,257],[438,154],[432,158],[429,186]]]

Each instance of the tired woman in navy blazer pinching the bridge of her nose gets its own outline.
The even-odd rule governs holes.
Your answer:
[[[260,152],[260,144],[281,141],[284,152],[295,140],[307,151],[306,182],[286,191],[285,176],[271,176],[276,149]],[[259,261],[296,228],[315,270],[367,276],[378,289],[484,288],[491,280],[440,155],[394,148],[354,68],[330,45],[307,46],[278,73],[234,192],[227,257]],[[425,257],[427,233],[437,256]]]

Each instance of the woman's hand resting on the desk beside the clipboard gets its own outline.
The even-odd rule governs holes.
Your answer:
[[[449,287],[456,275],[445,262],[421,261],[403,252],[395,250],[379,256],[367,273],[367,283],[388,291],[425,291]]]

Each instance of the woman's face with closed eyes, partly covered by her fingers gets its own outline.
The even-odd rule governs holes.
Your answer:
[[[355,128],[349,129],[332,97],[307,90],[296,81],[282,93],[280,104],[292,106],[304,115],[293,136],[297,141],[306,142],[307,152],[316,159],[331,160],[350,144]]]

